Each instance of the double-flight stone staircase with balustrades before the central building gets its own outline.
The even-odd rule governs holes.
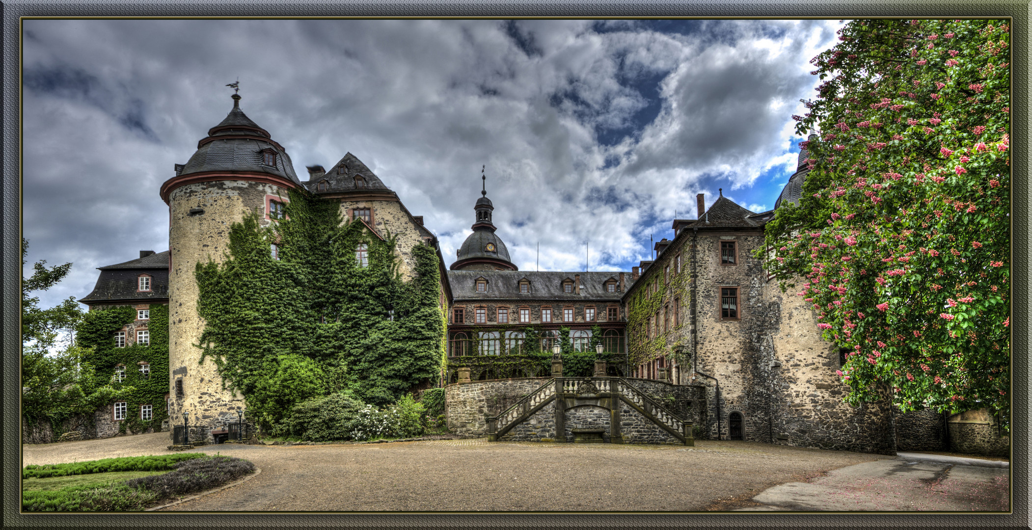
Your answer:
[[[488,440],[497,441],[550,403],[555,403],[554,418],[550,426],[550,428],[554,428],[556,433],[554,441],[567,441],[567,410],[582,405],[593,405],[608,409],[610,412],[609,432],[607,433],[610,442],[625,442],[628,436],[625,436],[623,431],[623,424],[626,420],[621,418],[622,407],[620,405],[622,403],[681,443],[695,445],[691,422],[678,418],[623,377],[553,377],[548,379],[501,415],[487,417]],[[575,429],[575,431],[583,430]],[[604,431],[604,429],[600,431]],[[580,440],[575,439],[575,441]]]

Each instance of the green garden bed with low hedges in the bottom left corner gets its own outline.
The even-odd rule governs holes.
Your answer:
[[[24,511],[139,511],[254,472],[251,462],[203,453],[26,466]]]

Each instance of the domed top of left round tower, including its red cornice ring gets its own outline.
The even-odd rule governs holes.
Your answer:
[[[186,164],[175,165],[175,176],[161,187],[166,202],[174,188],[207,180],[259,180],[285,188],[301,185],[287,151],[268,131],[240,110],[240,96],[233,94],[233,108],[219,125],[197,142],[197,152]]]

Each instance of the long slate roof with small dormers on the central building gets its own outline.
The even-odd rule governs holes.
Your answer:
[[[580,294],[563,293],[562,280],[580,274],[583,288]],[[487,279],[487,292],[477,292],[477,278]],[[519,280],[530,280],[530,292],[519,292]],[[619,287],[615,293],[606,292],[606,281],[610,278],[619,281],[619,272],[529,272],[516,270],[449,270],[448,283],[456,301],[471,300],[556,300],[584,302],[587,300],[604,300],[617,302],[623,293]],[[623,275],[624,290],[631,288],[631,274]]]

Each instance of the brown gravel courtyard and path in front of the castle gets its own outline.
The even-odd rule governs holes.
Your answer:
[[[26,445],[23,463],[169,453],[167,433]],[[892,457],[766,443],[676,445],[501,442],[208,445],[262,469],[169,510],[669,510],[757,505],[765,489]]]

